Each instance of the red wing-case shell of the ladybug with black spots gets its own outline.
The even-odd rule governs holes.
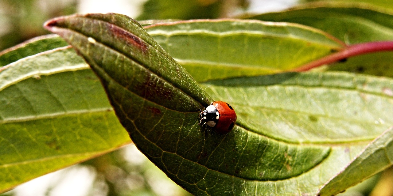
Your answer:
[[[231,105],[222,101],[213,102],[212,105],[216,107],[220,114],[219,120],[214,127],[215,130],[221,134],[230,132],[233,126],[235,126],[237,119],[235,110]]]

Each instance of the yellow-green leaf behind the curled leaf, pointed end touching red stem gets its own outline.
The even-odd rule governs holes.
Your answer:
[[[198,82],[279,73],[343,48],[317,29],[257,20],[191,20],[146,29]]]

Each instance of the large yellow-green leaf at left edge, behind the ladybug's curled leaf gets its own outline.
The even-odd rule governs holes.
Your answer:
[[[43,36],[0,56],[0,192],[130,143],[98,78],[62,45]]]

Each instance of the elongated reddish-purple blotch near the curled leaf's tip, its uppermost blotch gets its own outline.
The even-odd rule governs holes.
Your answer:
[[[122,29],[116,25],[109,24],[108,29],[112,31],[116,36],[118,36],[120,39],[125,40],[128,44],[134,45],[137,48],[140,48],[142,52],[147,51],[147,44],[143,42],[141,38],[138,36],[126,31],[125,29]]]

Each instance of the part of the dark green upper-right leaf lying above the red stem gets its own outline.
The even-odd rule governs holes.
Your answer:
[[[345,4],[310,4],[278,13],[249,16],[274,22],[293,22],[321,29],[346,44],[391,40],[392,12]],[[334,27],[334,28],[333,28]]]

